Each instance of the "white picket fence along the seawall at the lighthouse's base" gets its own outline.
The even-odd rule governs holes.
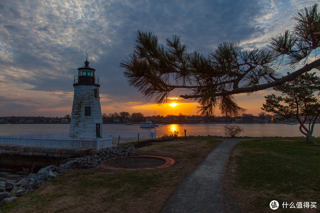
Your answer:
[[[72,138],[72,137],[26,136],[26,135],[0,135],[0,144],[18,145],[18,146],[36,146],[36,147],[55,147],[55,148],[84,148],[84,149],[99,150],[100,148],[111,147],[112,137]]]

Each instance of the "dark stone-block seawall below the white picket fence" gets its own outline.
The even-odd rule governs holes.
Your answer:
[[[92,155],[95,149],[29,147],[0,145],[0,168],[31,167],[43,168],[48,165],[59,165],[68,158]]]

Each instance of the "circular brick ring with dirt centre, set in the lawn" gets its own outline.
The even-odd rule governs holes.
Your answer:
[[[105,169],[139,171],[169,167],[174,162],[168,157],[140,155],[108,159],[102,161],[100,166]]]

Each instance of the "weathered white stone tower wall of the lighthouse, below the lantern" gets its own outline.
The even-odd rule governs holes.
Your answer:
[[[98,90],[97,98],[94,97],[94,89]],[[91,106],[91,116],[84,115],[85,106]],[[103,137],[99,87],[94,85],[75,86],[69,137],[95,138],[96,124],[100,124],[100,136]]]

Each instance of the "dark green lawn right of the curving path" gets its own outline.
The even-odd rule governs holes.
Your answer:
[[[239,142],[230,156],[224,196],[226,212],[320,212],[320,147],[300,138]],[[273,200],[279,202],[276,210],[269,207]],[[317,208],[297,208],[297,202],[316,202]]]

